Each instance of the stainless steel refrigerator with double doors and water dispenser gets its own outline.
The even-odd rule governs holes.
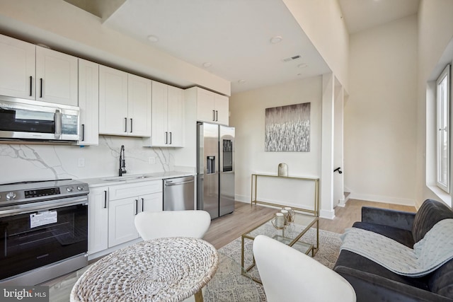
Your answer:
[[[234,128],[197,122],[197,209],[234,211]]]

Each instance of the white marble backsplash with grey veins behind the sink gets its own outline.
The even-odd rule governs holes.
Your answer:
[[[98,146],[0,144],[0,184],[117,176],[121,145],[128,175],[175,170],[174,149],[144,147],[136,137],[100,136]]]

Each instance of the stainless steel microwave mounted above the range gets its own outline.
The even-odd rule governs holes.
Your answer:
[[[0,140],[79,140],[79,107],[0,95]]]

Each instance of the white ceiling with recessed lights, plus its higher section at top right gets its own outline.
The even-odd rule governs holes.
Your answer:
[[[338,2],[355,33],[416,13],[419,0]],[[126,0],[104,25],[231,81],[231,93],[330,71],[282,0]]]

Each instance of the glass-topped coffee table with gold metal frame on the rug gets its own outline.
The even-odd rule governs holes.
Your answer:
[[[254,240],[258,235],[268,236],[275,240],[285,243],[286,245],[304,252],[304,254],[309,255],[311,252],[311,257],[316,255],[316,252],[319,250],[319,217],[313,214],[302,214],[296,213],[294,215],[294,222],[289,223],[285,228],[277,229],[273,226],[274,218],[261,223],[259,226],[251,229],[246,233],[243,233],[241,236],[241,267],[243,267],[242,274],[246,277],[253,279],[254,281],[261,283],[260,280],[253,277],[253,274],[248,274],[250,270],[255,267],[255,258],[253,257],[253,263],[248,267],[244,265],[244,243],[246,239]],[[309,231],[309,229],[316,224],[316,243],[304,243],[302,240],[299,240],[304,236],[304,234]],[[251,251],[253,253],[253,250]]]

